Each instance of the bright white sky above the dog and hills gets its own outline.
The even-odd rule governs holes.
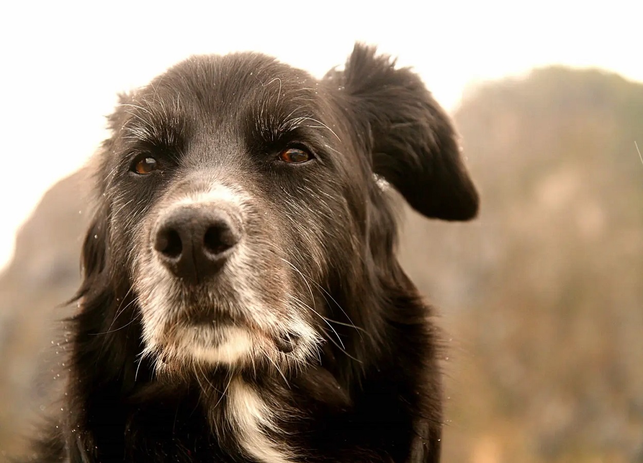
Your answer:
[[[547,64],[643,81],[640,0],[6,2],[0,268],[42,194],[105,138],[104,116],[119,91],[188,55],[233,50],[262,51],[321,76],[356,40],[413,66],[449,109],[469,84]]]

